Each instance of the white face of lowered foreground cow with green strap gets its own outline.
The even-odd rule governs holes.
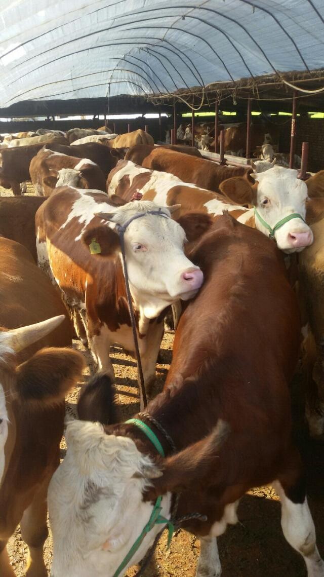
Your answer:
[[[133,440],[107,435],[99,424],[71,422],[66,442],[48,488],[51,577],[112,577],[150,518],[152,503],[142,494],[147,477],[160,472]],[[167,517],[170,501],[169,494],[162,501]],[[146,535],[127,567],[144,557],[160,530]]]

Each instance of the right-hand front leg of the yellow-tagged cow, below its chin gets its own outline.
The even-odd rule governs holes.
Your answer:
[[[155,382],[155,370],[157,355],[161,347],[161,342],[164,333],[164,323],[156,323],[152,325],[151,330],[146,335],[147,345],[144,353],[141,353],[141,363],[144,376],[144,384],[146,395],[150,396],[150,389]],[[139,339],[140,340],[140,339]],[[141,349],[140,349],[141,350]],[[140,382],[140,376],[137,376],[138,382]]]

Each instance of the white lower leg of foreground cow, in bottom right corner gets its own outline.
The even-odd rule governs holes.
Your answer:
[[[303,479],[292,471],[274,481],[281,501],[281,527],[288,543],[302,554],[308,577],[324,577],[324,563],[316,546],[315,526],[308,508]]]

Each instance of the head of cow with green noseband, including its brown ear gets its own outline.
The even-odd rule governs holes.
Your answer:
[[[263,173],[251,174],[255,185],[242,177],[229,178],[220,184],[220,190],[239,204],[254,205],[261,218],[273,228],[285,217],[298,214],[274,232],[278,248],[285,253],[300,252],[311,245],[313,235],[304,222],[306,217],[307,186],[297,178],[297,170],[274,166]],[[255,216],[255,226],[266,236],[268,228]]]

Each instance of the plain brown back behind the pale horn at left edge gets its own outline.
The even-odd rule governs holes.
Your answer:
[[[42,347],[70,346],[71,323],[59,291],[33,261],[31,253],[17,242],[0,237],[0,326],[24,327],[65,314],[59,327],[20,353],[31,357]]]

